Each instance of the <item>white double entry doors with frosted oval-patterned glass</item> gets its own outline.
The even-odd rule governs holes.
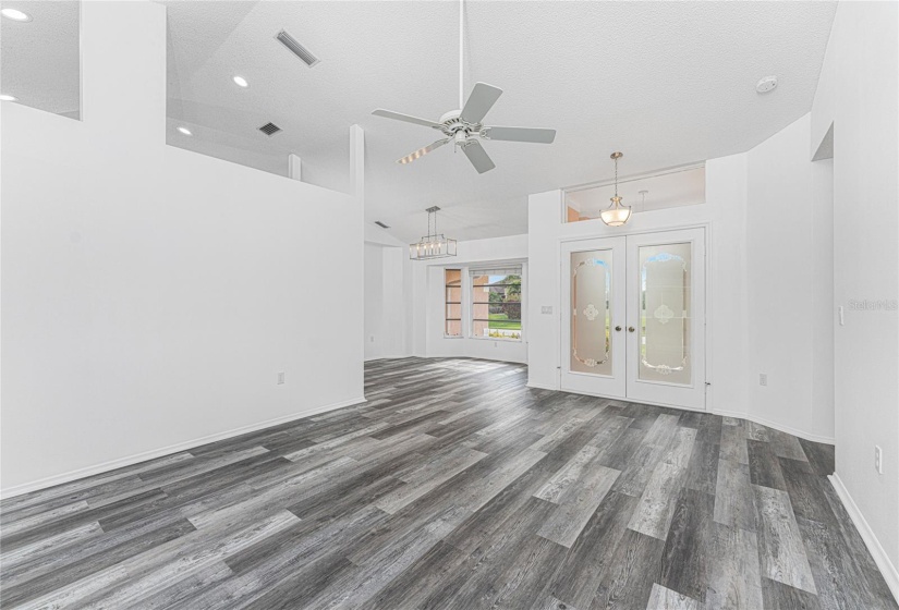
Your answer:
[[[705,231],[562,244],[563,390],[705,408]]]

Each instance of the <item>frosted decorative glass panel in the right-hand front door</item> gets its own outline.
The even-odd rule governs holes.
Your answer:
[[[640,246],[641,380],[691,383],[691,245]]]

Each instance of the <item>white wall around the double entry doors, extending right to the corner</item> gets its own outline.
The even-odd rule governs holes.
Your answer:
[[[623,230],[600,220],[563,223],[561,192],[532,195],[529,383],[560,387],[562,240],[705,225],[706,408],[833,442],[833,398],[815,386],[833,370],[831,283],[819,267],[833,223],[826,194],[818,202],[813,193],[813,176],[826,170],[814,171],[809,134],[806,115],[746,154],[708,160],[706,204],[636,213]],[[768,387],[760,389],[760,373]]]

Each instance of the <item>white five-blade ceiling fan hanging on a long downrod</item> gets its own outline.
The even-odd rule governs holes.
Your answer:
[[[531,142],[535,144],[552,144],[556,139],[556,130],[545,130],[537,127],[497,127],[485,125],[482,121],[487,112],[493,108],[499,96],[502,95],[502,89],[494,87],[486,83],[475,83],[467,101],[463,103],[463,28],[464,28],[464,12],[463,2],[459,2],[459,106],[461,110],[450,110],[440,117],[437,121],[429,121],[427,119],[420,119],[391,110],[384,110],[378,108],[372,114],[376,117],[384,117],[386,119],[393,119],[406,123],[414,123],[425,127],[432,127],[444,134],[444,137],[433,144],[406,155],[402,159],[398,159],[398,163],[411,163],[415,159],[424,157],[432,150],[435,150],[445,144],[452,142],[462,149],[469,161],[472,162],[477,173],[490,171],[496,167],[481,146],[482,139],[497,139],[503,142]]]

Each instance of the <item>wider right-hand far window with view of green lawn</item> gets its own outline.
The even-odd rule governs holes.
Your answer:
[[[472,333],[521,341],[521,267],[472,269]]]

